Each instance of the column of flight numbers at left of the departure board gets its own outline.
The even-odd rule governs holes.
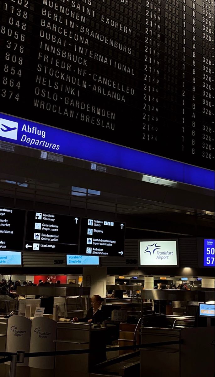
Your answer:
[[[3,1],[0,4],[0,95],[5,101],[17,103],[21,89],[24,89],[22,79],[29,7],[27,0]]]

